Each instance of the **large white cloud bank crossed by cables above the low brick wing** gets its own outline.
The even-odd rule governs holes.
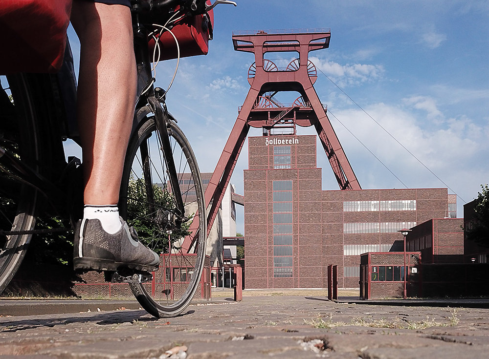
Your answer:
[[[461,116],[426,129],[415,112],[400,106],[380,103],[367,107],[366,111],[464,200],[470,201],[477,194],[478,186],[487,182],[489,169],[482,164],[489,152],[489,123],[478,125]],[[407,186],[446,187],[363,111],[342,110],[334,115]],[[331,113],[330,119],[363,188],[403,187]],[[318,163],[318,167],[327,169],[327,159]]]

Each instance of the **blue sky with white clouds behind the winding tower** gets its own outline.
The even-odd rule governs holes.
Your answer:
[[[396,176],[409,188],[449,187],[463,215],[463,204],[489,182],[487,0],[237,2],[215,9],[209,54],[180,60],[167,97],[202,172],[214,170],[249,89],[254,59],[234,51],[232,32],[329,27],[330,47],[312,52],[310,60],[334,84],[319,73],[314,87],[362,188],[405,188]],[[76,42],[72,46],[76,55]],[[159,86],[166,88],[174,66],[158,65]],[[298,134],[313,133],[298,127]],[[323,190],[337,190],[319,149]],[[244,169],[247,142],[231,179],[239,193]]]

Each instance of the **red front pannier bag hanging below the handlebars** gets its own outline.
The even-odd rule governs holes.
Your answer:
[[[211,1],[207,0],[206,3],[210,5]],[[206,14],[184,19],[184,23],[175,25],[171,30],[178,40],[180,57],[207,55],[209,52],[209,40],[212,38],[213,26],[213,10],[208,11]],[[168,31],[161,34],[159,46],[160,60],[177,58],[177,44],[172,34]],[[150,40],[149,47],[150,55],[153,56],[153,49],[155,48],[154,40]]]

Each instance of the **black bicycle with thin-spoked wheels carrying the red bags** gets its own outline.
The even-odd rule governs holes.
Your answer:
[[[206,244],[199,167],[177,120],[167,110],[166,91],[154,85],[158,38],[169,32],[179,52],[171,28],[188,17],[207,14],[219,3],[236,6],[225,0],[214,4],[131,1],[138,99],[119,211],[130,226],[144,232],[140,234],[148,238],[145,244],[161,253],[160,268],[153,274],[121,268],[105,275],[106,280],[128,283],[137,301],[154,317],[177,316],[190,304],[200,282]],[[151,38],[156,42],[153,61]],[[35,229],[38,215],[60,215],[68,230],[81,217],[80,161],[67,161],[62,145],[67,138],[78,142],[69,116],[71,107],[65,101],[75,88],[74,79],[69,79],[69,51],[63,66],[68,71],[57,75],[7,75],[8,85],[0,91],[0,293],[19,268],[32,236],[53,232]],[[193,233],[189,231],[192,222],[198,228]]]

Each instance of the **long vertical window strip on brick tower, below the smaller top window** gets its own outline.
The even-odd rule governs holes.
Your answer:
[[[276,146],[275,148],[290,146]],[[286,151],[281,149],[281,151]],[[277,150],[277,153],[279,151]],[[292,181],[273,181],[273,276],[292,276]]]

